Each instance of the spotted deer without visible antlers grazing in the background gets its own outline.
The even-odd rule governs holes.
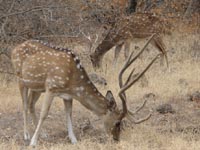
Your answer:
[[[153,44],[159,51],[166,54],[165,44],[163,43],[160,34],[168,32],[166,30],[167,23],[164,20],[155,16],[152,13],[134,13],[130,16],[120,16],[112,25],[107,27],[109,32],[98,45],[95,51],[90,55],[94,68],[99,68],[102,63],[103,56],[112,47],[116,46],[115,59],[124,43],[125,49],[129,51],[130,41],[133,38],[144,39],[156,33],[151,44]],[[165,55],[166,62],[167,55]]]

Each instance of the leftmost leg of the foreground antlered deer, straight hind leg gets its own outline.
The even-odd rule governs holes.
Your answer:
[[[24,139],[29,140],[30,134],[27,129],[27,122],[28,122],[28,88],[24,87],[23,85],[19,85],[20,94],[22,97],[23,103],[23,118],[24,118]]]

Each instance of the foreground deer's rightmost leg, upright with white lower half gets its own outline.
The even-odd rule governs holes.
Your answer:
[[[66,113],[66,119],[67,119],[67,127],[68,127],[68,135],[71,140],[72,144],[77,143],[77,139],[73,132],[72,127],[72,99],[63,99],[64,105],[65,105],[65,113]]]

